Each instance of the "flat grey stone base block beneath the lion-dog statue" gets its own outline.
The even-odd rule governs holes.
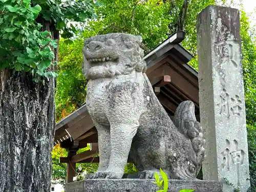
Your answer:
[[[156,192],[159,188],[154,180],[144,179],[89,179],[65,184],[65,192]],[[222,192],[218,181],[169,180],[168,192],[195,189],[195,192]]]

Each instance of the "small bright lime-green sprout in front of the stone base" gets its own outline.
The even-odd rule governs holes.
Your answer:
[[[168,190],[167,175],[163,172],[163,170],[161,168],[160,168],[160,174],[161,174],[163,180],[160,180],[160,177],[159,177],[158,173],[155,173],[156,181],[153,181],[153,183],[157,184],[157,186],[159,187],[159,190],[157,190],[156,192],[167,192],[167,190]],[[182,190],[180,190],[180,192],[192,192],[192,191],[194,191],[194,189],[182,189]]]

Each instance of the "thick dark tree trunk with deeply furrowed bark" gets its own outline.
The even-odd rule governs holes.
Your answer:
[[[55,79],[0,71],[0,191],[49,192]]]

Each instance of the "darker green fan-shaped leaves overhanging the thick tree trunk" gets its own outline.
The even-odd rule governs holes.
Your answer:
[[[1,0],[0,70],[29,72],[36,82],[56,77],[59,31],[72,37],[77,29],[68,22],[97,18],[94,7],[99,5],[92,0]]]

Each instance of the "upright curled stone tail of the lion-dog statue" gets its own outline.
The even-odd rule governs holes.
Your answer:
[[[205,158],[203,147],[203,130],[195,116],[195,105],[192,101],[183,101],[179,104],[175,115],[174,124],[179,132],[191,140],[194,151],[197,155],[197,162],[201,163]]]

